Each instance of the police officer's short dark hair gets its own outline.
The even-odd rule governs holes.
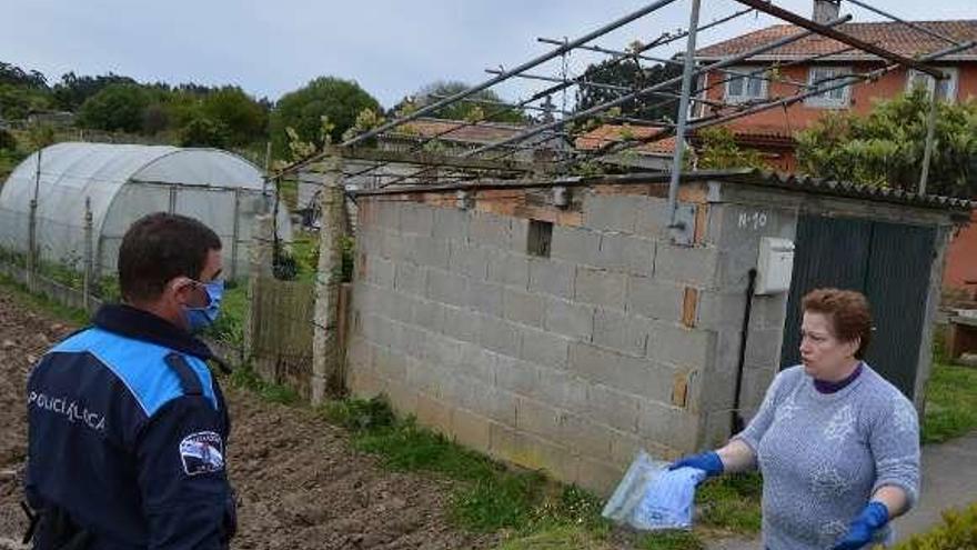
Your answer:
[[[125,300],[153,300],[167,283],[183,276],[198,279],[221,239],[193,218],[157,212],[135,221],[119,248],[119,290]]]

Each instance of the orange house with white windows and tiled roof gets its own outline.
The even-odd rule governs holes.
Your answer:
[[[837,6],[817,0],[815,16],[823,21],[835,19]],[[827,6],[828,10],[817,6]],[[889,51],[913,58],[953,46],[946,37],[957,42],[977,40],[977,20],[917,21],[928,31],[913,29],[898,22],[843,23],[837,30],[875,43]],[[800,33],[793,24],[775,24],[741,37],[703,48],[696,52],[699,62],[708,63],[744,53],[757,46],[776,39]],[[812,57],[816,60],[809,61]],[[879,58],[847,48],[845,44],[820,36],[810,36],[777,48],[766,54],[755,56],[749,62],[729,67],[729,72],[713,71],[701,80],[706,99],[748,107],[798,93],[840,83],[848,74],[859,74],[880,69],[887,63]],[[786,108],[775,108],[728,122],[737,141],[765,153],[773,168],[794,171],[796,168],[794,134],[815,122],[826,112],[850,110],[867,113],[876,101],[890,99],[899,93],[924,86],[947,101],[965,101],[977,97],[977,48],[941,58],[936,68],[949,78],[936,82],[926,73],[897,69],[877,80],[859,82]],[[694,116],[708,116],[715,106],[698,103]],[[733,112],[725,108],[725,112]]]

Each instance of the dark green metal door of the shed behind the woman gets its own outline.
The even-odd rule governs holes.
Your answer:
[[[866,361],[911,399],[935,239],[934,228],[802,216],[782,368],[800,361],[804,294],[819,287],[857,290],[872,303],[876,328]]]

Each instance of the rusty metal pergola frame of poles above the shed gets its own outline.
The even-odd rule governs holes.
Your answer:
[[[839,30],[838,26],[849,21],[850,16],[842,17],[823,24],[800,17],[783,8],[779,8],[773,2],[766,0],[736,0],[745,8],[706,24],[701,24],[701,10],[703,0],[688,0],[688,2],[691,2],[689,21],[688,27],[685,30],[682,30],[677,33],[662,33],[658,38],[649,41],[648,43],[639,44],[631,49],[604,48],[593,43],[595,40],[607,37],[608,33],[623,29],[629,24],[635,23],[636,21],[647,21],[647,18],[653,16],[656,11],[677,1],[678,0],[656,0],[638,10],[635,10],[604,26],[601,26],[597,29],[573,40],[554,40],[538,38],[538,42],[552,44],[555,46],[555,48],[533,58],[530,61],[521,63],[513,69],[500,68],[497,70],[490,70],[487,72],[492,73],[492,77],[476,86],[467,88],[450,97],[430,98],[433,99],[433,101],[429,104],[425,104],[409,114],[383,122],[376,128],[366,130],[351,139],[345,140],[338,146],[328,147],[323,151],[316,152],[305,159],[294,162],[293,164],[284,168],[282,171],[270,176],[270,178],[281,179],[290,173],[295,173],[299,170],[305,169],[326,157],[340,157],[344,159],[356,159],[360,161],[372,162],[369,168],[355,172],[343,173],[344,177],[364,176],[372,171],[376,171],[382,167],[393,163],[411,164],[417,167],[416,171],[413,171],[409,174],[389,177],[391,178],[390,181],[385,181],[380,187],[392,187],[399,184],[401,187],[404,187],[412,183],[430,184],[431,180],[434,178],[431,178],[429,174],[431,174],[432,172],[436,174],[439,171],[443,172],[444,170],[449,170],[449,174],[442,173],[441,177],[436,179],[436,181],[445,181],[445,176],[447,176],[449,179],[467,183],[477,182],[480,179],[495,181],[500,178],[508,178],[514,180],[523,179],[525,181],[531,181],[533,178],[538,179],[540,173],[548,173],[554,176],[563,173],[565,176],[566,169],[572,167],[574,162],[595,160],[600,161],[602,159],[607,159],[611,156],[620,154],[621,152],[628,149],[643,147],[657,140],[675,137],[675,148],[674,153],[672,154],[672,169],[667,176],[669,181],[668,203],[671,212],[671,227],[673,227],[673,229],[681,230],[682,222],[676,220],[676,197],[677,187],[682,176],[682,167],[686,148],[685,142],[688,132],[709,126],[723,124],[769,109],[786,108],[797,102],[804,101],[807,98],[877,79],[878,77],[887,72],[900,68],[915,69],[917,71],[930,74],[936,79],[944,79],[946,78],[946,76],[934,67],[934,62],[940,60],[941,58],[945,58],[946,56],[951,56],[954,53],[975,47],[975,42],[973,41],[959,42],[951,37],[947,37],[939,32],[926,29],[925,27],[920,27],[916,23],[906,21],[898,18],[897,16],[883,11],[879,8],[872,7],[870,4],[866,3],[865,0],[847,1],[855,6],[858,6],[859,8],[869,10],[875,14],[882,16],[890,21],[911,28],[930,38],[939,39],[948,44],[947,48],[935,52],[928,52],[916,59],[910,59],[899,53],[880,48],[877,44],[868,43],[856,37],[846,34],[845,32]],[[727,23],[728,21],[732,21],[738,17],[745,16],[754,11],[763,12],[783,21],[789,22],[798,28],[798,32],[776,40],[772,40],[767,43],[759,44],[747,51],[741,52],[735,56],[725,57],[713,62],[704,63],[702,62],[702,60],[696,59],[696,43],[698,34],[701,32],[719,27],[724,23]],[[770,52],[777,48],[782,48],[784,46],[790,44],[793,42],[815,34],[830,38],[837,42],[840,42],[844,48],[828,53],[807,56],[802,59],[792,59],[790,61],[774,64],[776,67],[789,67],[802,63],[810,63],[819,59],[830,58],[832,56],[843,54],[850,51],[862,51],[868,53],[874,58],[877,58],[879,61],[885,62],[886,64],[880,69],[875,69],[865,73],[846,74],[840,78],[835,78],[833,81],[820,81],[814,83],[794,81],[792,79],[784,79],[776,76],[770,76],[767,73],[768,69],[766,67],[754,71],[731,69],[731,67],[736,64],[749,64],[751,61],[754,61],[755,63],[758,59],[761,59],[764,53]],[[685,39],[684,53],[675,54],[671,58],[646,53],[651,50],[663,48],[682,39]],[[644,70],[642,62],[655,62],[662,64],[682,66],[683,72],[681,77],[667,79],[649,86],[639,86],[636,83],[633,88],[594,82],[590,80],[590,76],[586,72],[576,77],[567,74],[566,56],[573,51],[586,51],[588,53],[606,56],[604,63],[608,67],[624,62],[625,60],[629,60],[637,64],[638,70]],[[563,61],[563,66],[562,70],[557,71],[556,76],[543,74],[540,72],[540,70],[545,68],[545,66],[551,61],[558,60]],[[766,64],[769,64],[769,61],[764,62]],[[708,74],[712,72],[718,72],[723,74],[723,78],[719,81],[712,83],[706,82],[704,84],[698,84],[696,82],[695,77]],[[796,93],[788,97],[762,100],[757,101],[756,103],[749,104],[737,104],[725,101],[716,101],[715,99],[709,99],[707,97],[706,92],[711,88],[715,88],[716,86],[723,84],[729,80],[741,78],[756,78],[766,81],[785,82],[793,87],[796,87],[797,91]],[[486,101],[483,98],[476,97],[479,92],[488,90],[502,82],[506,82],[513,79],[522,79],[526,82],[545,82],[546,84],[552,86],[547,86],[542,90],[535,91],[528,98],[516,102]],[[582,90],[586,88],[601,88],[618,92],[621,93],[621,96],[613,100],[595,104],[582,110],[574,111],[566,109],[565,107],[563,109],[554,108],[551,102],[552,96],[561,92],[566,93],[567,90],[574,88],[576,90]],[[664,118],[646,120],[635,116],[621,116],[620,113],[615,112],[615,108],[618,108],[622,104],[634,100],[647,98],[662,99],[662,101],[659,101],[658,103],[651,106],[649,109],[658,107],[668,108],[677,102],[677,120],[668,120]],[[921,169],[919,186],[917,189],[917,192],[919,194],[924,194],[926,192],[926,183],[929,171],[929,159],[933,154],[933,134],[936,124],[937,101],[938,99],[936,97],[936,93],[934,93],[930,103],[929,116],[927,119],[927,140],[923,162],[924,166]],[[365,147],[370,140],[373,140],[377,137],[391,136],[390,132],[407,127],[417,119],[421,119],[422,117],[436,114],[441,109],[462,102],[485,106],[490,109],[487,110],[487,112],[484,113],[481,120],[454,121],[456,122],[456,124],[453,124],[451,128],[444,131],[437,132],[433,136],[420,137],[417,142],[409,151],[380,151]],[[689,109],[691,104],[708,106],[713,108],[714,112],[708,116],[693,118],[691,116],[691,112],[693,111],[692,109]],[[474,147],[457,154],[447,156],[425,150],[425,146],[430,143],[436,143],[439,142],[439,140],[445,139],[445,137],[450,137],[452,133],[459,132],[464,128],[485,126],[486,122],[492,120],[492,118],[497,117],[503,112],[510,112],[513,109],[522,110],[523,112],[541,112],[543,113],[543,116],[541,117],[541,120],[537,120],[536,123],[534,123],[533,126],[526,127],[521,131],[516,131],[510,137]],[[624,124],[629,124],[634,127],[657,128],[658,131],[652,132],[649,136],[645,136],[641,139],[612,140],[611,142],[598,147],[596,150],[586,152],[577,151],[574,156],[570,156],[566,150],[560,150],[553,153],[553,141],[573,139],[572,133],[567,132],[567,128],[573,122],[594,118],[600,120],[622,122]],[[536,138],[536,140],[528,141],[533,138]],[[534,156],[538,158],[533,158],[531,160],[511,158],[513,156],[525,153],[527,151],[530,153],[535,153],[536,151],[544,149],[548,150],[551,154]]]

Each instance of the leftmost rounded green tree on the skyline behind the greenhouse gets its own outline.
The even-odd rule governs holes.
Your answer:
[[[109,84],[88,98],[78,111],[84,128],[135,133],[142,129],[150,96],[139,84]]]

